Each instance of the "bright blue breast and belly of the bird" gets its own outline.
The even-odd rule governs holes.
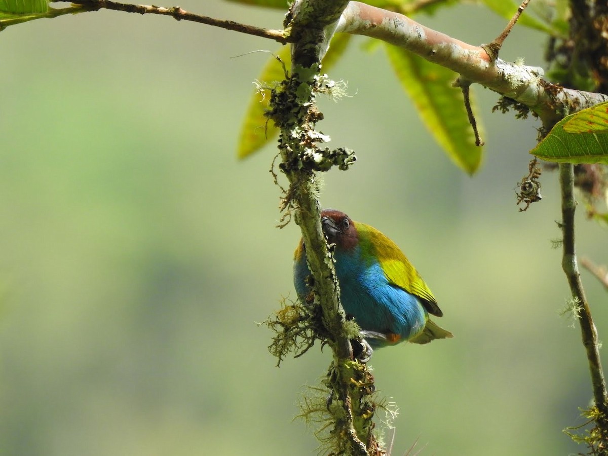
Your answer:
[[[401,340],[423,331],[426,310],[415,295],[389,283],[378,261],[364,260],[359,246],[336,251],[335,255],[342,306],[362,330],[398,334]],[[309,292],[305,281],[308,275],[306,256],[302,255],[294,264],[294,284],[300,299]],[[375,348],[384,345],[376,340],[368,342]]]

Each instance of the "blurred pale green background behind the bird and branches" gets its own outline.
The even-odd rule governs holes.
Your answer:
[[[221,1],[181,7],[280,28],[282,13]],[[505,21],[474,5],[418,20],[470,43]],[[358,37],[331,74],[353,97],[320,102],[350,171],[322,204],[387,233],[434,291],[452,340],[375,353],[401,411],[393,454],[558,455],[591,398],[578,328],[560,317],[556,174],[517,212],[538,122],[491,114],[474,86],[486,157],[466,176],[418,120],[379,47]],[[274,146],[235,159],[261,38],[119,12],[0,35],[0,452],[7,455],[308,455],[292,418],[330,362],[281,368],[256,322],[294,297],[294,224],[275,228]],[[516,27],[501,57],[542,64]],[[578,251],[608,261],[606,230],[578,214]],[[586,272],[600,337],[607,294]],[[606,359],[604,359],[606,361]],[[608,362],[608,361],[606,361]]]

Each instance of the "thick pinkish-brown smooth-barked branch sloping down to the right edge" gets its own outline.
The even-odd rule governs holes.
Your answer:
[[[537,112],[545,123],[608,100],[608,95],[566,89],[542,78],[540,67],[492,60],[482,46],[472,46],[424,27],[399,13],[350,2],[337,32],[371,36],[420,55],[459,73],[463,79],[513,98]]]

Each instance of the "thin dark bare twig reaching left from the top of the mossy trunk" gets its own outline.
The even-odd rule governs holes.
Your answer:
[[[234,30],[235,32],[247,33],[247,35],[268,38],[270,40],[278,41],[279,43],[288,43],[287,35],[283,30],[263,29],[261,27],[240,24],[239,22],[235,21],[224,21],[222,19],[210,18],[209,16],[189,13],[186,10],[182,10],[179,6],[166,8],[154,5],[133,5],[127,3],[119,3],[113,2],[111,0],[78,0],[75,1],[74,4],[83,6],[83,9],[80,11],[98,11],[101,9],[106,9],[125,11],[127,13],[157,14],[162,16],[171,16],[172,18],[177,19],[178,21],[199,22],[201,24],[207,24],[209,26],[221,27],[222,29],[226,30]]]

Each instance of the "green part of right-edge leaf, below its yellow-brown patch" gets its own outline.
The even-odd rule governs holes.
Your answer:
[[[564,126],[574,116],[576,114],[571,114],[556,123],[530,153],[549,162],[608,164],[608,134],[567,133]]]

